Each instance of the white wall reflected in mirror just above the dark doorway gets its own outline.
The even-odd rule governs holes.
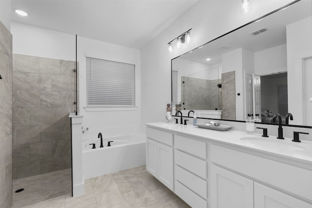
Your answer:
[[[287,72],[286,44],[254,53],[254,74],[271,75]]]

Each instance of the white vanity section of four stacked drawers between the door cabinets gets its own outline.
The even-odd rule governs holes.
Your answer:
[[[175,193],[194,208],[208,207],[207,142],[174,134]]]

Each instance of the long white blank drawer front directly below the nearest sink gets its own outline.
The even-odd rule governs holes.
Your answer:
[[[210,157],[213,163],[312,200],[312,169],[213,144],[210,145]]]

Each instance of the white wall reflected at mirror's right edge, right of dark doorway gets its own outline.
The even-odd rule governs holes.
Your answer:
[[[290,124],[302,125],[303,110],[303,58],[312,57],[312,18],[302,19],[286,26],[288,111],[293,115]],[[310,105],[305,101],[306,105]],[[312,107],[310,105],[310,107]],[[311,115],[308,115],[311,116]]]

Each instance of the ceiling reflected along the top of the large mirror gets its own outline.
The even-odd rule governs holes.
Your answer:
[[[238,48],[244,48],[251,52],[258,52],[285,44],[286,25],[310,17],[312,14],[311,11],[311,0],[298,1],[283,11],[277,11],[266,16],[259,22],[253,22],[222,38],[218,38],[204,45],[203,48],[196,49],[192,53],[187,53],[181,58],[214,65],[221,62],[222,54]],[[264,27],[268,30],[255,36],[251,35],[252,32]],[[219,48],[224,45],[229,46],[229,48],[220,50]],[[206,61],[206,58],[211,58],[211,60]]]

